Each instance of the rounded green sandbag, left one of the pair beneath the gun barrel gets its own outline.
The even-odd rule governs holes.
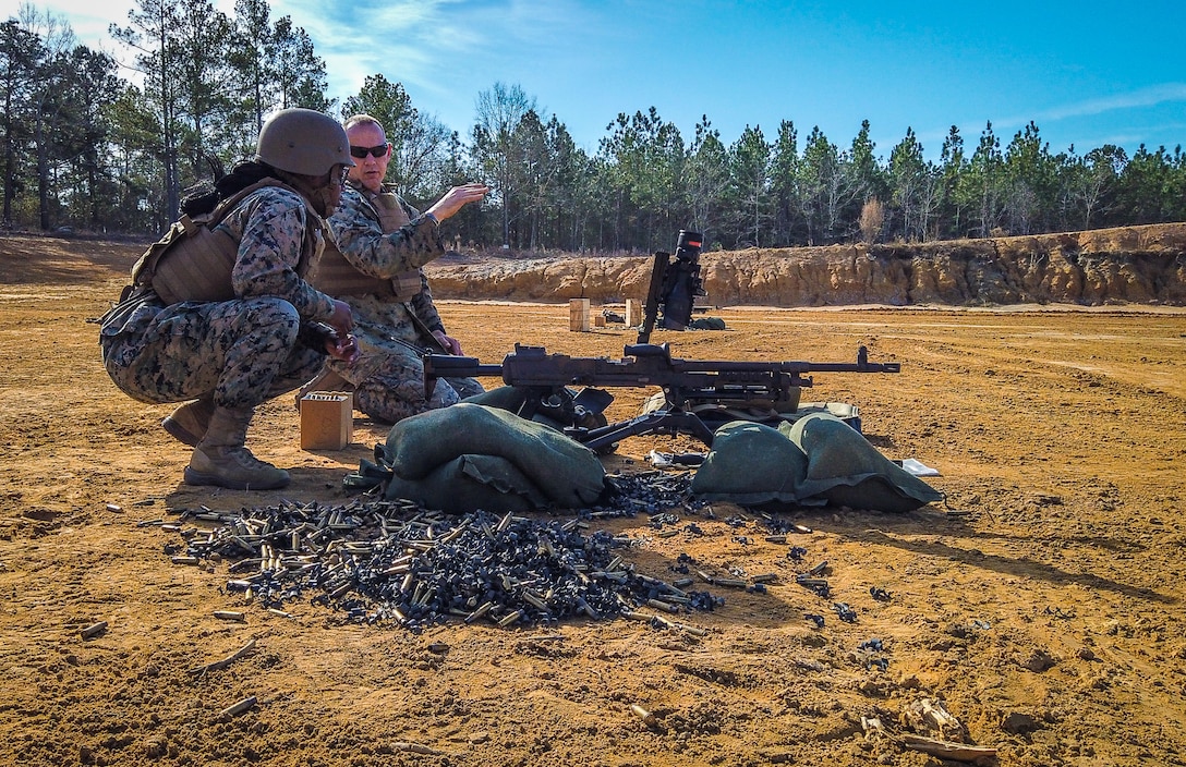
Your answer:
[[[696,469],[691,492],[742,506],[795,503],[806,468],[808,456],[778,429],[731,421],[713,434],[713,449]]]

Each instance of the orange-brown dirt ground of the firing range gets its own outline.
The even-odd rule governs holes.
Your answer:
[[[927,481],[946,503],[803,510],[789,518],[810,532],[788,543],[728,505],[676,510],[700,535],[606,519],[638,573],[669,580],[688,555],[777,580],[714,589],[722,606],[680,616],[694,631],[453,620],[417,634],[307,601],[281,616],[228,590],[227,562],[171,561],[183,539],[159,523],[184,510],[344,503],[343,475],[387,429],[356,417],[347,449],[304,452],[283,397],[249,445],[292,469],[291,487],[180,484],[189,449],[159,427],[170,408],[111,385],[88,324],[134,249],[68,245],[0,239],[2,765],[1186,763],[1180,309],[721,309],[727,331],[657,332],[683,358],[849,360],[865,344],[900,362],[898,376],[817,375],[805,398],[859,405],[884,454],[942,472]],[[516,341],[618,357],[635,339],[569,332],[567,306],[441,314],[484,362]],[[625,417],[650,392],[614,394]],[[649,469],[652,448],[699,446],[635,437],[607,468]],[[824,561],[829,599],[795,581]],[[912,716],[927,707],[942,727]],[[944,760],[932,741],[980,750]]]

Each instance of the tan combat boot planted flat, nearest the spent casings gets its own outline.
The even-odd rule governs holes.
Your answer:
[[[276,490],[288,484],[288,472],[251,455],[243,447],[254,409],[215,408],[210,428],[193,448],[185,467],[187,485],[217,485],[231,490]]]

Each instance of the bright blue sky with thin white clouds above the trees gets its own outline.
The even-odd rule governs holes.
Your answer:
[[[4,18],[18,0],[0,0]],[[862,120],[884,161],[913,128],[930,159],[988,121],[1002,148],[1031,120],[1052,152],[1186,146],[1186,2],[728,2],[725,0],[272,0],[325,59],[340,102],[368,75],[463,138],[496,82],[597,151],[606,126],[650,107],[684,142],[707,115],[731,145],[795,122],[841,148]],[[130,0],[34,2],[91,47]],[[104,9],[98,11],[102,6]],[[216,6],[230,13],[232,0]]]

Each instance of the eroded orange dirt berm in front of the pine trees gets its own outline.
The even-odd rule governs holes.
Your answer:
[[[1186,223],[923,244],[710,253],[715,306],[1186,303]],[[651,256],[483,260],[429,267],[444,299],[642,299]]]

